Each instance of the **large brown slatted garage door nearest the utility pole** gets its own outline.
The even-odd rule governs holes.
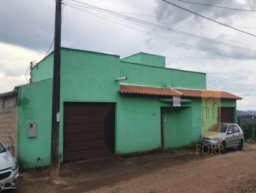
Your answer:
[[[65,162],[108,157],[114,151],[115,104],[64,104]]]

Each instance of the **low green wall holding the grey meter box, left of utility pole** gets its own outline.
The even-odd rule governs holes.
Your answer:
[[[51,157],[52,79],[22,86],[18,92],[18,160],[22,169],[48,166]],[[28,124],[37,123],[37,137],[28,138]],[[42,161],[36,162],[40,157]]]

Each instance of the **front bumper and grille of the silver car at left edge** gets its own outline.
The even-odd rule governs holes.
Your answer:
[[[6,173],[10,173],[10,175],[6,175]],[[15,171],[12,171],[12,169],[1,171],[1,175],[6,177],[0,180],[0,191],[3,189],[12,189],[19,181],[19,167]]]

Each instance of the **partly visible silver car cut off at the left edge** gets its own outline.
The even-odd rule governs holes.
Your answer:
[[[9,150],[0,142],[0,190],[12,189],[19,181],[19,166]]]

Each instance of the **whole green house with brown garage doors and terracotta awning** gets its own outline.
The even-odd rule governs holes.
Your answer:
[[[17,91],[20,166],[49,166],[53,53]],[[179,148],[213,123],[236,122],[239,96],[206,89],[206,74],[165,58],[61,49],[60,161]]]

